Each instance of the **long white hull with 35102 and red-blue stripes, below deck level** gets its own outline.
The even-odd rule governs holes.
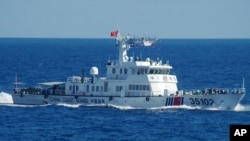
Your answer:
[[[159,97],[116,97],[116,96],[80,96],[80,95],[34,95],[13,94],[14,104],[80,104],[96,106],[124,106],[133,108],[156,108],[163,106],[190,106],[201,109],[233,110],[244,94],[215,94],[215,95],[183,95]]]

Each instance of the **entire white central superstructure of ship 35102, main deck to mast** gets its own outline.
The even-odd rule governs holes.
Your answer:
[[[106,64],[106,81],[110,80],[109,85],[120,86],[125,93],[133,95],[141,91],[157,96],[176,92],[177,78],[170,75],[172,66],[169,62],[159,58],[128,56],[127,51],[131,48],[128,40],[128,36],[120,36],[118,33],[118,60],[109,60]]]

